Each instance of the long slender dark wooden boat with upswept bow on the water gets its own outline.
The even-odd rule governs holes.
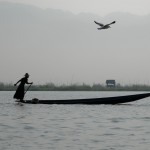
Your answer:
[[[149,97],[150,93],[134,94],[117,97],[103,97],[103,98],[87,98],[87,99],[68,99],[68,100],[25,100],[23,103],[27,104],[121,104],[137,101]]]

